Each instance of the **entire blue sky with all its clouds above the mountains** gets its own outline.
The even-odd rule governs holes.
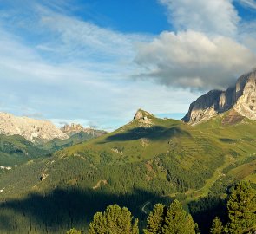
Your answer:
[[[0,111],[113,131],[256,68],[255,0],[0,0]]]

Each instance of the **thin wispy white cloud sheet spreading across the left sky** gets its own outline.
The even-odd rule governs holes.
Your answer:
[[[184,90],[130,79],[141,69],[134,63],[135,44],[153,36],[103,29],[38,3],[27,7],[34,13],[2,17],[1,110],[21,115],[28,113],[20,107],[30,107],[29,114],[42,113],[56,124],[79,120],[113,130],[139,107],[185,113],[187,101],[178,97],[194,99]]]

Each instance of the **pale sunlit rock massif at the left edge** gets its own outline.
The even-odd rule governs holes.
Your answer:
[[[60,129],[48,120],[34,120],[1,112],[0,134],[21,135],[26,140],[34,143],[44,143],[54,138],[69,138],[67,134],[62,133]]]

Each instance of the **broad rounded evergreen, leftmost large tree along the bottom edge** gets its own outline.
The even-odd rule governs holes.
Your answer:
[[[131,212],[126,207],[109,205],[107,210],[97,212],[89,224],[89,234],[138,234],[138,220],[132,223]]]

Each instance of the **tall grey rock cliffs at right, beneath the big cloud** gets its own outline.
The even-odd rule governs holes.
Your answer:
[[[182,120],[195,125],[229,110],[256,120],[256,69],[241,75],[236,84],[226,91],[212,90],[200,96],[190,105]]]

